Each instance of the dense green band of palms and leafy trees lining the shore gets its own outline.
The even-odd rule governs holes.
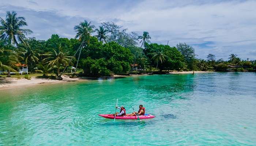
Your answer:
[[[214,54],[196,58],[195,49],[187,43],[176,46],[150,43],[150,33],[128,32],[113,22],[96,28],[83,20],[74,27],[74,38],[53,34],[48,40],[29,37],[33,33],[26,19],[16,12],[0,18],[0,70],[11,76],[18,73],[18,64],[26,64],[30,73],[44,76],[68,73],[75,65],[79,76],[110,76],[112,74],[165,73],[170,70],[255,71],[256,61],[242,60],[230,54],[228,60],[216,60]],[[7,71],[5,73],[5,71]]]

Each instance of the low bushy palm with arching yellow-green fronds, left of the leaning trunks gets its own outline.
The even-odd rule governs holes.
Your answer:
[[[46,61],[49,66],[53,68],[57,68],[57,76],[60,74],[61,66],[73,65],[71,60],[72,56],[67,56],[68,52],[64,50],[64,48],[58,44],[56,49],[52,49],[51,52],[43,54],[47,56],[47,58],[42,59],[42,61]]]

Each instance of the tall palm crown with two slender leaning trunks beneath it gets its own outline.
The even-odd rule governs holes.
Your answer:
[[[82,48],[84,47],[83,46],[84,42],[87,42],[87,45],[89,45],[90,38],[91,38],[91,33],[94,32],[94,30],[93,30],[94,27],[95,26],[92,25],[91,22],[87,22],[86,20],[84,20],[84,22],[80,22],[79,25],[74,27],[74,30],[76,32],[75,38],[78,38],[79,41],[81,41],[81,45],[76,50],[76,53],[80,50],[79,55],[78,55],[78,60],[76,62],[76,69],[77,69],[77,66],[78,66],[78,62],[79,62],[79,58],[80,58]],[[75,57],[76,53],[73,55],[73,57]],[[72,59],[73,59],[73,57],[72,57]],[[67,69],[67,67],[68,67],[68,64],[65,66],[65,68],[62,71],[62,73],[60,74],[60,76],[64,73],[64,71]],[[75,72],[76,72],[76,69],[75,69]]]

